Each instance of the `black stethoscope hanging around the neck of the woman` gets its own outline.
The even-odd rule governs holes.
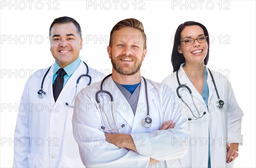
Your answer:
[[[208,68],[208,70],[209,70],[209,68]],[[220,96],[219,96],[219,94],[218,94],[218,90],[217,90],[217,87],[216,87],[214,78],[213,78],[213,76],[212,76],[212,72],[211,72],[210,70],[209,70],[209,72],[210,72],[210,75],[211,75],[211,78],[212,78],[212,82],[213,82],[213,85],[214,85],[214,87],[215,87],[215,90],[216,90],[216,93],[217,93],[217,96],[218,96],[218,101],[216,102],[216,106],[217,106],[218,108],[222,108],[223,105],[224,105],[224,101],[220,99]],[[189,105],[183,100],[183,98],[180,96],[180,93],[179,93],[179,89],[180,89],[181,87],[186,87],[186,89],[189,90],[189,93],[190,93],[190,96],[191,96],[191,98],[192,98],[193,104],[195,105],[194,98],[193,98],[193,95],[192,95],[192,91],[190,90],[190,88],[189,88],[187,85],[185,85],[185,84],[180,84],[180,80],[179,80],[179,76],[178,76],[178,71],[177,71],[177,73],[176,73],[176,76],[177,76],[177,81],[178,81],[178,83],[179,83],[179,86],[178,86],[177,89],[176,89],[177,96],[186,104],[187,107],[189,107]],[[196,109],[196,111],[198,112],[198,109],[197,109],[196,105],[195,105],[195,109]],[[195,117],[195,119],[189,118],[189,119],[188,119],[189,121],[200,119],[200,118],[202,118],[202,117],[206,114],[206,112],[204,112],[203,115],[200,116],[200,113],[198,112],[198,117],[197,117],[197,116],[195,116],[195,115],[193,114],[193,112],[192,112],[192,110],[190,109],[190,107],[189,107],[189,110],[191,111],[192,115]]]

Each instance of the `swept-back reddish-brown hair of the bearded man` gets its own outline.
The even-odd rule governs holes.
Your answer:
[[[114,35],[114,33],[117,30],[119,30],[123,27],[131,27],[131,28],[140,30],[140,32],[143,36],[143,49],[147,48],[147,45],[146,45],[147,37],[146,37],[145,32],[144,32],[143,24],[141,23],[140,20],[137,20],[137,19],[134,19],[134,18],[121,20],[118,23],[116,23],[116,25],[113,27],[113,29],[111,30],[111,33],[110,33],[109,46],[113,45],[113,35]]]

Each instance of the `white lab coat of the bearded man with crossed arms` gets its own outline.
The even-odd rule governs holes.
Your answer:
[[[151,127],[144,127],[143,119],[147,116],[147,103],[143,79],[140,85],[140,96],[134,113],[128,101],[122,95],[111,77],[103,84],[103,90],[113,95],[114,117],[116,127],[125,127],[107,131],[101,127],[110,128],[105,114],[96,103],[95,95],[100,90],[101,82],[81,90],[76,96],[73,114],[73,133],[79,145],[82,162],[86,167],[179,167],[177,158],[186,154],[187,146],[180,146],[176,141],[186,141],[189,132],[185,129],[186,120],[178,109],[172,109],[172,103],[177,102],[175,93],[168,86],[147,79],[149,116]],[[110,97],[99,94],[99,101],[106,110],[112,126]],[[159,130],[164,121],[172,119],[176,123],[174,129]],[[118,148],[105,141],[105,133],[131,134],[138,152]],[[175,141],[175,142],[174,142]],[[126,143],[125,139],[123,143]],[[148,166],[149,159],[160,162]],[[173,160],[170,160],[173,159]]]

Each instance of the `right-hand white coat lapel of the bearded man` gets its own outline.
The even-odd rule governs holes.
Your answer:
[[[153,86],[149,82],[147,82],[148,105],[151,103],[151,101],[153,100],[154,95],[155,95],[152,88],[153,88]],[[138,128],[144,127],[142,124],[142,121],[147,116],[147,113],[148,113],[148,109],[147,109],[145,82],[144,82],[143,78],[141,78],[140,96],[139,96],[139,100],[138,100],[138,104],[137,104],[137,108],[136,108],[136,113],[135,113],[135,118],[134,118],[134,123],[133,123],[131,133],[134,133],[134,131],[137,130]],[[154,112],[150,111],[149,113],[154,113]],[[140,130],[143,130],[143,129],[140,129]]]

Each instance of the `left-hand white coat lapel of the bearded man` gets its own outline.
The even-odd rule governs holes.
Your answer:
[[[104,82],[102,87],[103,90],[105,90],[104,86],[105,86],[105,89],[110,88],[110,90],[107,90],[107,91],[112,93],[114,110],[116,110],[116,112],[119,113],[122,116],[122,118],[130,125],[130,127],[132,127],[134,122],[134,114],[125,96],[123,96],[123,94],[121,93],[119,88],[116,86],[116,84],[113,82],[113,79],[111,77],[106,79],[106,81]],[[111,104],[111,101],[109,101],[108,103]],[[115,119],[116,119],[116,122],[118,122],[119,120],[118,117],[116,117]]]

